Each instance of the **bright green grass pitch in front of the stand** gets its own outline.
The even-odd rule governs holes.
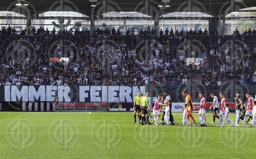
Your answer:
[[[181,127],[182,114],[173,115],[175,126],[156,127],[133,125],[127,112],[1,112],[0,158],[255,157],[249,124],[215,127],[208,113],[208,127]]]

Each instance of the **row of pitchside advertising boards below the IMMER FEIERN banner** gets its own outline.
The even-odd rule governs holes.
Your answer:
[[[172,112],[182,112],[184,102],[172,103]],[[210,105],[206,103],[207,112]],[[153,108],[154,103],[151,103]],[[193,111],[198,112],[200,103],[193,103]],[[234,111],[234,103],[229,103],[229,108]],[[132,102],[107,103],[107,102],[0,102],[0,111],[133,111]]]

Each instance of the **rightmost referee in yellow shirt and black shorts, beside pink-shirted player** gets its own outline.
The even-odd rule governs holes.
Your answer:
[[[149,96],[150,96],[150,93],[146,93],[145,96],[140,99],[140,105],[142,107],[142,123],[141,123],[142,125],[145,124],[146,119],[147,119],[149,125],[152,124],[149,122],[149,113],[148,113],[148,109],[150,111]],[[145,118],[145,116],[146,116],[146,118]]]

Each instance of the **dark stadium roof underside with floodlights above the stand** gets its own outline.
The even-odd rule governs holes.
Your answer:
[[[24,1],[24,0],[18,0]],[[28,11],[33,16],[47,11],[74,11],[91,17],[104,17],[109,12],[139,12],[148,16],[162,16],[174,12],[201,12],[215,17],[221,17],[231,12],[248,7],[256,7],[256,0],[27,0]],[[95,0],[94,0],[95,1]],[[164,7],[163,1],[169,7]],[[13,11],[25,14],[21,6],[16,6],[16,0],[0,0],[0,11]],[[96,7],[91,7],[91,4]],[[234,5],[231,5],[234,4]],[[162,5],[163,7],[158,7]],[[233,6],[233,7],[231,7]]]

